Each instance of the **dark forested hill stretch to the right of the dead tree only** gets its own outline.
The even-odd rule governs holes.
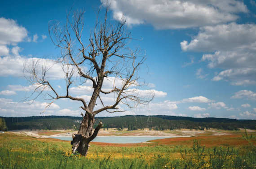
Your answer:
[[[193,118],[176,116],[122,116],[98,117],[105,128],[128,128],[128,130],[149,128],[153,130],[216,128],[238,130],[238,128],[256,129],[256,120],[236,120],[227,118]]]

